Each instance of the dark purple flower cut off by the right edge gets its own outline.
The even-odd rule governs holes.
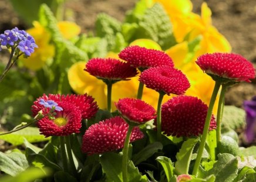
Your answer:
[[[245,136],[247,141],[251,143],[256,136],[256,96],[254,96],[251,101],[244,101],[244,109],[247,123]]]

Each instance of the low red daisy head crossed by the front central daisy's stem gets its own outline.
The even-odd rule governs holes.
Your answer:
[[[100,121],[86,130],[83,135],[82,151],[88,154],[100,154],[122,149],[127,130],[128,124],[120,116]],[[135,126],[130,142],[143,137],[143,133]]]

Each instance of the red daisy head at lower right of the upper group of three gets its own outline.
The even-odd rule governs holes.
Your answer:
[[[180,70],[172,67],[160,66],[149,68],[140,74],[139,81],[147,88],[167,95],[181,95],[190,87],[190,83]]]

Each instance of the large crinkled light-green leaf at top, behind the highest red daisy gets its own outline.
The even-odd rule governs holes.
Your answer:
[[[152,39],[159,43],[163,50],[176,44],[169,16],[159,3],[146,10],[143,19],[139,22],[139,35],[136,39],[138,38]]]

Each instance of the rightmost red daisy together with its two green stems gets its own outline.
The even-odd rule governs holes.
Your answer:
[[[221,90],[221,96],[218,105],[216,135],[217,141],[220,141],[221,139],[221,119],[223,115],[224,95],[227,86],[233,85],[240,81],[250,82],[250,79],[255,78],[255,70],[252,63],[250,63],[250,61],[248,61],[239,54],[207,53],[198,57],[196,63],[203,71],[205,71],[213,78],[213,80],[215,81],[215,87],[213,95],[211,96],[206,123],[204,126],[204,132],[201,136],[201,142],[198,149],[196,163],[194,164],[193,175],[195,176],[197,176],[198,168],[200,166],[201,157],[203,154],[204,146],[206,144],[208,127],[210,126],[210,117],[213,111],[213,106],[217,97],[218,90],[220,89],[220,85],[222,85],[223,88]]]

